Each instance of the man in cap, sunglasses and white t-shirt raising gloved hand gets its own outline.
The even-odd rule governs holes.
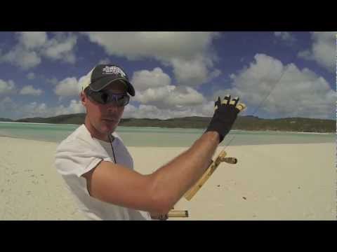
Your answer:
[[[85,123],[58,146],[55,167],[91,220],[151,220],[166,215],[205,172],[244,109],[238,99],[218,98],[206,132],[177,158],[143,175],[133,170],[131,155],[115,132],[128,94],[135,95],[126,73],[119,66],[99,64],[81,86]]]

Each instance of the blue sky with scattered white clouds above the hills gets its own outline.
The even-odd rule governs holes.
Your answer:
[[[0,32],[0,118],[85,113],[81,80],[117,64],[136,96],[123,118],[242,116],[336,120],[336,34],[308,31]]]

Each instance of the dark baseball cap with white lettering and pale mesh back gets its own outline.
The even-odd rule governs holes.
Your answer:
[[[120,66],[114,64],[98,64],[86,76],[82,83],[82,90],[89,87],[91,90],[97,92],[103,90],[116,80],[121,80],[126,85],[126,91],[135,96],[135,89],[128,80],[127,74],[121,69]]]

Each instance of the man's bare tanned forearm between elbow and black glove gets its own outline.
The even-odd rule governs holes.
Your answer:
[[[204,174],[218,143],[217,132],[206,132],[187,151],[151,175],[154,199],[164,202],[165,211],[169,211]]]

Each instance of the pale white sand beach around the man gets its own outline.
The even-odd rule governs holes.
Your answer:
[[[57,145],[0,137],[0,220],[85,220],[53,167]],[[185,149],[129,147],[143,174]],[[238,163],[221,164],[190,202],[176,204],[189,218],[170,220],[336,220],[336,144],[229,146],[226,152]]]

